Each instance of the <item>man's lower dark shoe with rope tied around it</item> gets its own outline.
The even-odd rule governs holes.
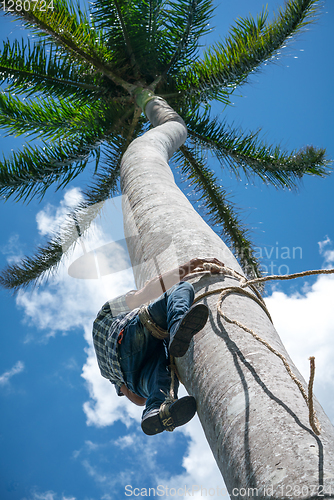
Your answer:
[[[174,402],[162,403],[159,409],[149,411],[141,421],[141,428],[148,436],[163,431],[173,431],[184,425],[196,413],[196,400],[193,396],[185,396]]]

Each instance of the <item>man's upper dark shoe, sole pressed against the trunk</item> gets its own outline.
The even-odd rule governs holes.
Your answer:
[[[205,304],[191,306],[183,318],[176,325],[175,333],[171,333],[169,354],[175,358],[185,355],[193,336],[204,328],[209,316],[209,309]]]

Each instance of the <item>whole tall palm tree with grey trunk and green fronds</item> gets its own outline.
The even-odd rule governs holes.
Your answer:
[[[4,43],[0,68],[8,87],[0,96],[0,121],[9,132],[30,134],[43,144],[28,144],[2,161],[1,195],[25,202],[42,198],[52,184],[65,187],[92,158],[96,164],[93,183],[68,215],[62,234],[35,256],[7,267],[1,284],[17,290],[54,272],[97,216],[101,202],[117,192],[120,172],[122,192],[129,200],[125,230],[128,235],[139,233],[142,240],[140,247],[129,248],[132,263],[146,262],[136,275],[137,286],[156,272],[149,258],[161,246],[150,236],[157,230],[173,235],[179,261],[213,256],[241,272],[219,235],[173,184],[167,164],[173,154],[244,271],[259,275],[247,230],[203,151],[210,151],[237,175],[242,171],[289,188],[304,174],[325,175],[325,151],[308,147],[287,152],[265,144],[258,132],[235,130],[212,117],[209,103],[229,104],[234,90],[311,22],[317,4],[290,0],[271,22],[266,11],[257,19],[239,19],[224,43],[199,56],[199,40],[213,13],[209,0],[96,0],[90,15],[66,0],[47,4],[45,10],[42,2],[24,10],[16,0],[11,15],[23,19],[37,41]],[[148,131],[150,124],[153,129]],[[170,268],[172,257],[166,252],[159,260],[162,271]],[[219,286],[230,282],[226,278]],[[196,284],[207,290],[216,286],[213,277]],[[249,360],[254,341],[217,318],[214,296],[204,300],[212,311],[210,325],[178,369],[196,397],[228,488],[237,498],[233,488],[260,488],[264,498],[270,485],[284,496],[284,487],[292,484],[307,486],[310,496],[315,495],[311,486],[321,488],[324,478],[333,477],[334,437],[327,417],[318,407],[325,438],[316,436],[308,427],[304,401],[280,361],[259,346],[257,357]],[[284,352],[267,316],[252,299],[236,294],[226,302],[229,316],[240,318],[244,311],[244,322]],[[317,455],[309,451],[314,445]],[[239,497],[245,498],[240,492]]]

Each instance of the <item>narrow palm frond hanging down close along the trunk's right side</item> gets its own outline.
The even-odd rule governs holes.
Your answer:
[[[259,262],[255,257],[253,243],[247,229],[236,214],[233,204],[227,200],[226,191],[219,186],[213,172],[205,165],[201,154],[183,145],[176,158],[188,181],[200,194],[206,215],[212,226],[223,228],[224,240],[232,247],[247,276],[261,276]],[[226,241],[225,241],[226,243]]]

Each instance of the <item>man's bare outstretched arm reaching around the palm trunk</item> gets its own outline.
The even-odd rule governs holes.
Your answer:
[[[196,258],[192,259],[189,262],[186,262],[180,267],[173,269],[171,271],[167,271],[162,275],[156,276],[151,279],[146,285],[141,288],[141,290],[137,290],[135,293],[127,295],[125,300],[130,307],[130,309],[134,309],[136,307],[141,306],[142,304],[146,304],[153,299],[158,298],[165,290],[168,290],[189,273],[192,273],[194,269],[203,265],[204,262],[210,262],[211,264],[216,264],[218,266],[224,266],[222,262],[215,258]],[[215,272],[215,271],[213,271]]]

